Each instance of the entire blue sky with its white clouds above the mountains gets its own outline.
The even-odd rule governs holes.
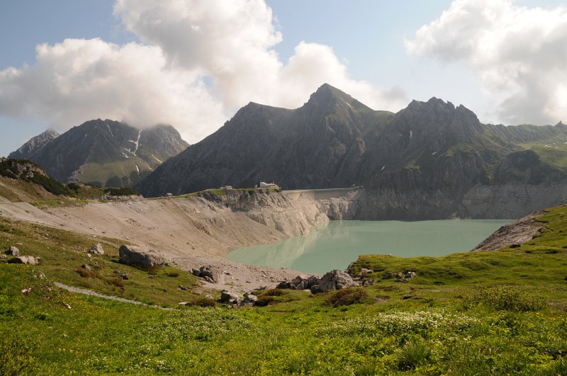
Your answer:
[[[0,0],[0,51],[0,155],[96,118],[195,143],[325,82],[376,110],[567,120],[567,1]]]

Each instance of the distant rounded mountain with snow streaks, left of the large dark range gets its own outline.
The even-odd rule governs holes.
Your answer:
[[[132,186],[187,146],[169,125],[138,130],[98,119],[73,127],[30,159],[58,181]]]

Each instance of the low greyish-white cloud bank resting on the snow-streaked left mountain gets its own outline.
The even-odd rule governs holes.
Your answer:
[[[32,66],[0,71],[1,114],[44,118],[57,130],[96,118],[169,123],[192,140],[224,119],[201,76],[169,69],[159,47],[67,39],[36,50]]]

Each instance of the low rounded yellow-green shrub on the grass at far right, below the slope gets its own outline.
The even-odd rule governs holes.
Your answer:
[[[494,309],[507,311],[537,311],[545,307],[545,301],[540,297],[535,297],[519,287],[509,286],[489,287],[479,292],[473,300]]]

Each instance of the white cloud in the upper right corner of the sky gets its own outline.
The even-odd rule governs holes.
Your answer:
[[[567,8],[511,0],[455,0],[415,38],[412,55],[466,62],[498,102],[504,123],[549,124],[567,115]]]

